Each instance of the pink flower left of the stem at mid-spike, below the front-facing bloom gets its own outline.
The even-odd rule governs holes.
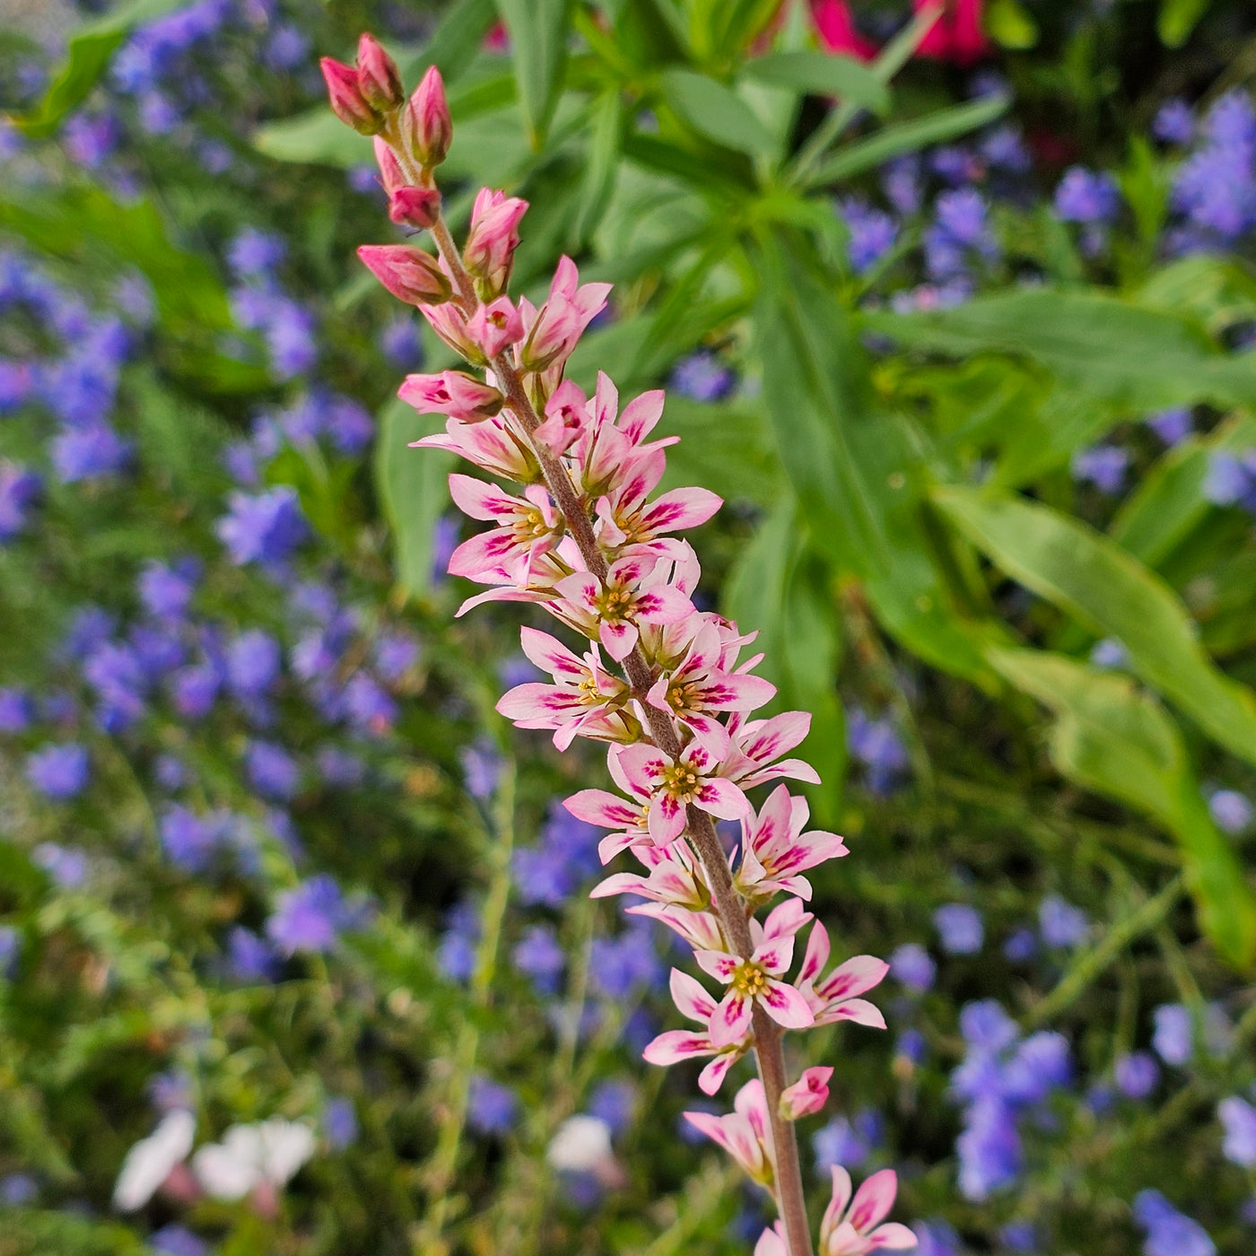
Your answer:
[[[597,646],[582,659],[535,628],[520,632],[524,653],[554,677],[502,695],[497,710],[520,728],[554,728],[554,745],[566,750],[579,734],[598,741],[636,741],[637,717],[627,710],[628,686],[602,667]],[[609,796],[609,795],[608,795]]]

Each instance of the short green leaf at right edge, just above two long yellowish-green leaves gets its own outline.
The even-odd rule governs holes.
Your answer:
[[[1241,453],[1253,446],[1256,420],[1247,414],[1233,416],[1205,437],[1188,437],[1122,502],[1108,534],[1148,566],[1159,565],[1212,509],[1203,486],[1213,453]]]

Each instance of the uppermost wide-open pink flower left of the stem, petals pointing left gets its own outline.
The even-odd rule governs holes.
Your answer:
[[[450,574],[481,584],[495,584],[501,574],[519,588],[531,583],[536,560],[563,535],[563,516],[554,509],[549,490],[529,485],[522,497],[512,497],[495,485],[468,475],[450,476],[455,505],[472,519],[494,520],[497,528],[463,541],[450,558]]]

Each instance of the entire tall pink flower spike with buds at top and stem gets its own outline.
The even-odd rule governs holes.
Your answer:
[[[756,717],[775,688],[754,674],[761,654],[742,658],[754,634],[693,603],[697,556],[674,534],[706,522],[721,501],[705,489],[652,496],[673,443],[654,436],[662,392],[620,406],[605,374],[592,397],[565,378],[609,285],[582,284],[563,257],[544,304],[514,301],[507,284],[526,203],[482,190],[461,249],[441,217],[433,171],[452,128],[440,72],[430,69],[407,99],[396,67],[369,35],[355,65],[324,59],[323,70],[337,114],[376,137],[389,216],[430,229],[437,245],[436,255],[394,244],[363,246],[359,256],[482,371],[409,376],[401,388],[420,412],[447,416],[445,432],[418,446],[457,453],[494,477],[450,477],[461,510],[491,525],[450,559],[451,573],[486,585],[458,613],[486,602],[531,603],[583,638],[582,653],[525,628],[524,652],[550,679],[514,687],[499,710],[521,727],[551,731],[559,749],[577,736],[608,744],[618,793],[580,790],[566,808],[607,830],[603,863],[631,852],[644,873],[615,873],[594,896],[644,899],[631,911],[673,929],[720,987],[712,993],[674,971],[677,1006],[698,1027],[663,1034],[646,1056],[659,1064],[713,1058],[702,1086],[715,1093],[728,1068],[756,1051],[764,1080],[742,1088],[737,1110],[690,1119],[774,1194],[788,1237],[769,1232],[765,1248],[788,1243],[800,1256],[810,1241],[790,1122],[823,1105],[831,1070],[811,1069],[786,1085],[781,1034],[842,1020],[883,1027],[862,996],[888,971],[872,956],[830,970],[828,933],[804,906],[811,894],[804,873],[847,853],[835,834],[808,830],[806,803],[781,784],[818,781],[806,762],[786,757],[810,717]],[[772,793],[756,809],[751,794],[765,785]],[[734,858],[716,820],[740,825]],[[756,909],[777,898],[757,919]],[[791,978],[795,939],[808,924]],[[892,1173],[865,1183],[847,1213],[849,1193],[849,1179],[835,1173],[821,1235],[829,1256],[914,1245],[906,1227],[869,1235],[892,1202]]]

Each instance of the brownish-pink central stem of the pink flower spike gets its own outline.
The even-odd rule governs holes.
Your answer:
[[[402,157],[399,148],[398,157]],[[475,285],[462,265],[462,257],[458,255],[443,217],[437,216],[432,224],[432,236],[445,259],[445,265],[453,276],[453,283],[461,295],[460,304],[470,315],[475,310],[477,300]],[[528,433],[545,477],[545,486],[549,489],[554,504],[563,512],[568,533],[579,548],[585,566],[599,580],[604,580],[608,571],[605,555],[598,545],[589,512],[580,500],[571,477],[556,457],[531,440],[533,433],[540,427],[541,420],[524,389],[519,372],[505,353],[494,358],[492,371],[497,386],[506,394],[510,409]],[[623,661],[623,668],[628,683],[632,686],[633,697],[637,698],[644,712],[654,745],[673,759],[678,757],[682,747],[671,718],[666,712],[646,701],[646,695],[654,683],[654,676],[639,644]],[[732,883],[732,873],[728,869],[723,847],[720,845],[720,839],[716,835],[715,823],[706,811],[692,805],[687,809],[687,819],[688,835],[702,860],[725,939],[736,955],[744,958],[749,957],[754,947],[750,938],[746,903]],[[798,1139],[794,1135],[793,1123],[782,1120],[780,1117],[780,1096],[785,1089],[785,1055],[781,1049],[784,1035],[757,1004],[754,1012],[754,1026],[755,1055],[759,1061],[759,1076],[764,1084],[764,1098],[767,1103],[769,1135],[776,1166],[776,1205],[781,1220],[785,1222],[789,1256],[811,1256],[811,1235],[806,1220],[806,1199],[803,1193]]]

